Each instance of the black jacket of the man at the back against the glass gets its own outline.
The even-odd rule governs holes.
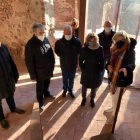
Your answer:
[[[110,47],[112,45],[112,37],[114,36],[115,32],[111,30],[111,34],[108,36],[110,38],[111,44],[110,46],[107,45],[106,39],[105,39],[105,31],[98,34],[99,37],[99,43],[104,49],[104,57],[108,58],[111,56]]]

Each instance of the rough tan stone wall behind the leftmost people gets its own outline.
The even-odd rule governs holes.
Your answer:
[[[45,22],[44,11],[42,0],[0,0],[0,41],[12,56],[24,58],[31,27],[35,22]]]

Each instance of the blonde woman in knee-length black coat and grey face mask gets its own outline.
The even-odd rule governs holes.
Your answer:
[[[98,36],[92,32],[86,37],[85,47],[81,49],[79,65],[82,70],[82,102],[86,103],[87,88],[91,89],[91,107],[95,107],[94,98],[96,91],[102,83],[102,71],[104,70],[103,47],[98,43]]]

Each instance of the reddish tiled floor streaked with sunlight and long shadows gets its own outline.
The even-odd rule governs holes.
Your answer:
[[[0,126],[0,140],[30,140],[30,117],[33,103],[36,102],[35,83],[30,81],[24,62],[15,62],[20,73],[16,84],[15,102],[17,107],[25,109],[26,113],[12,114],[5,100],[2,101],[10,129],[4,130]],[[69,95],[66,98],[61,97],[62,76],[59,65],[56,65],[50,91],[56,95],[56,99],[45,99],[45,109],[40,113],[44,140],[80,140],[110,132],[111,126],[105,125],[110,114],[104,113],[104,109],[111,105],[106,81],[97,91],[94,109],[90,107],[90,94],[87,94],[86,105],[80,106],[80,72],[76,74],[74,85],[76,99]],[[125,92],[114,136],[116,140],[140,140],[140,90],[127,89]]]

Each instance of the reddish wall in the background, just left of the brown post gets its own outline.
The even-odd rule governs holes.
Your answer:
[[[80,0],[54,0],[55,28],[63,29],[73,18],[79,18]]]

